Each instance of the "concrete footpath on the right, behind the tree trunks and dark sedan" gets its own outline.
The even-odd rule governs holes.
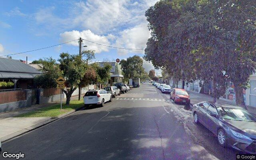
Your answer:
[[[191,92],[191,91],[188,91],[188,94],[190,95],[190,103],[191,104],[197,104],[202,101],[212,101],[212,96],[210,96],[210,95],[200,94],[200,93]],[[232,102],[229,100],[224,100],[222,98],[218,99],[217,102],[236,105],[235,102]],[[256,116],[256,107],[247,106],[247,110],[248,110],[248,112],[250,112],[251,114]]]

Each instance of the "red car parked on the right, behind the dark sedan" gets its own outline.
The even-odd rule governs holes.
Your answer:
[[[188,92],[184,89],[180,88],[173,88],[172,92],[170,93],[170,99],[173,100],[175,103],[186,103],[190,104],[190,97]]]

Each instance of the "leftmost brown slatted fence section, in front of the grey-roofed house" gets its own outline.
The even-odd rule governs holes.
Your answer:
[[[0,104],[17,102],[21,100],[26,100],[26,92],[24,90],[0,92]]]

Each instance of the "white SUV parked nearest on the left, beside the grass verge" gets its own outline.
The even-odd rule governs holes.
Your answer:
[[[112,102],[112,94],[106,90],[89,90],[84,94],[84,106],[98,104],[103,107],[108,101]]]

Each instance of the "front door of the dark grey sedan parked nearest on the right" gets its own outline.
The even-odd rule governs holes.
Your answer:
[[[211,113],[215,113],[217,117],[211,116]],[[206,128],[210,130],[213,133],[216,133],[216,130],[218,128],[218,112],[214,105],[210,104],[207,111],[206,111]]]

